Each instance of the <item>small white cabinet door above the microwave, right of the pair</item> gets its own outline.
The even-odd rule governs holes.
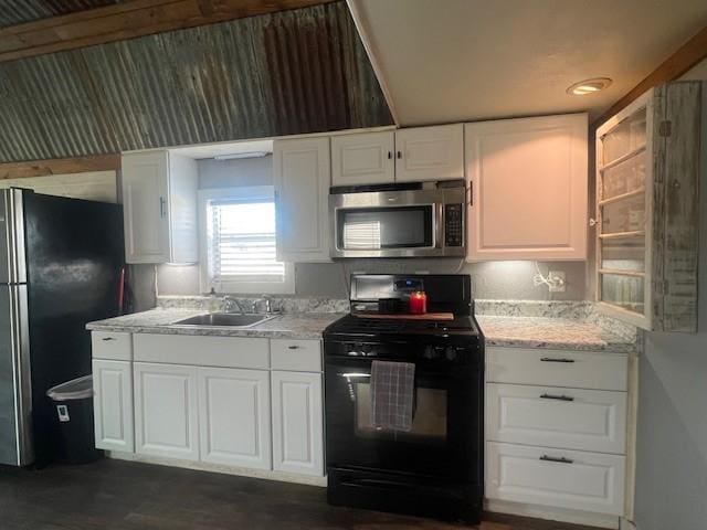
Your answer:
[[[443,125],[395,131],[395,181],[464,178],[464,126]]]

